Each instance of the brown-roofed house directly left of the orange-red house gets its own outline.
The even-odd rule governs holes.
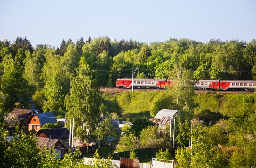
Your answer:
[[[17,115],[17,117],[18,117],[17,122],[19,122],[21,125],[27,124],[28,117],[34,113],[35,113],[35,111],[30,110],[30,109],[14,109],[12,112],[10,112],[10,114]]]

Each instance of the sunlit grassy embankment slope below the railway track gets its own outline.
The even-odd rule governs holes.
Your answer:
[[[103,94],[104,104],[109,111],[117,112],[124,115],[124,118],[130,119],[137,116],[150,116],[149,111],[154,97],[160,92],[125,92],[118,94]],[[248,94],[222,94],[222,93],[204,93],[197,94],[195,102],[198,107],[194,113],[200,109],[209,109],[219,111],[224,116],[235,117],[242,116],[244,97]],[[256,109],[256,104],[251,103],[249,106]]]

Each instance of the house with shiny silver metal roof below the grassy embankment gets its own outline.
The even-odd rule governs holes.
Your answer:
[[[165,125],[170,123],[172,118],[175,118],[177,112],[178,110],[162,109],[158,111],[156,116],[154,118],[151,118],[150,121],[154,122],[156,126],[165,129]]]

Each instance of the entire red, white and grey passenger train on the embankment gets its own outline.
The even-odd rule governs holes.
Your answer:
[[[133,88],[155,88],[164,89],[172,87],[172,79],[133,79]],[[132,88],[132,78],[118,78],[116,80],[117,88]],[[194,81],[194,87],[198,90],[248,90],[256,89],[256,80],[214,80],[203,79]]]

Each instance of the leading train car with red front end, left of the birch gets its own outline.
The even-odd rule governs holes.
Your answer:
[[[173,80],[169,79],[133,79],[133,88],[165,88],[173,85]],[[132,78],[118,78],[116,81],[118,88],[132,88]]]

